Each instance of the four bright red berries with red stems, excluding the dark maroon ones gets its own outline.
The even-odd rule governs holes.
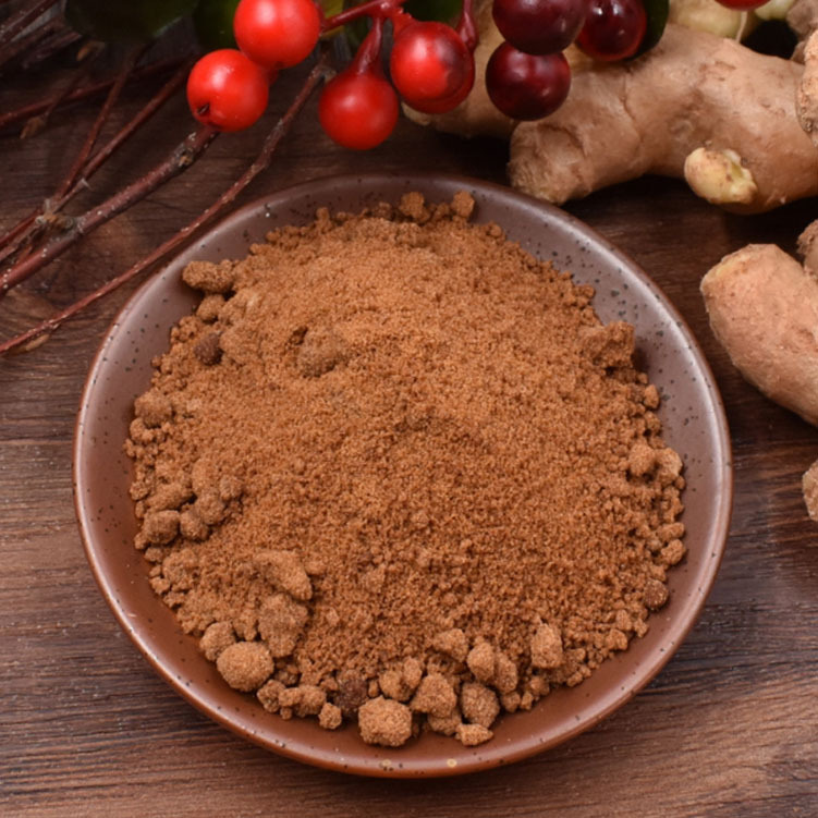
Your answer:
[[[398,122],[399,94],[427,113],[455,108],[474,84],[472,0],[464,1],[454,28],[414,20],[404,2],[369,0],[322,19],[314,0],[241,0],[233,19],[240,50],[212,51],[191,72],[193,115],[220,131],[248,127],[264,113],[267,87],[280,69],[305,60],[322,34],[362,17],[371,20],[370,30],[352,63],[327,84],[318,105],[321,126],[332,139],[353,149],[379,145]],[[381,70],[387,21],[394,30],[391,83]]]

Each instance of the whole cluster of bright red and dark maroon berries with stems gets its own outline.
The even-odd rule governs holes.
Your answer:
[[[740,0],[728,0],[736,2]],[[468,95],[475,78],[477,30],[472,0],[454,25],[415,20],[406,0],[366,0],[326,17],[316,0],[240,0],[233,16],[237,49],[203,57],[191,72],[194,117],[220,131],[252,125],[265,111],[281,69],[305,60],[322,34],[361,17],[371,21],[347,68],[323,88],[318,115],[326,133],[354,149],[379,145],[398,122],[400,99],[425,113],[443,113]],[[516,120],[547,117],[567,96],[572,42],[598,60],[622,60],[647,42],[648,5],[668,0],[493,0],[503,35],[486,69],[497,108]],[[381,68],[383,29],[392,25],[388,80]],[[659,34],[661,34],[661,27]]]

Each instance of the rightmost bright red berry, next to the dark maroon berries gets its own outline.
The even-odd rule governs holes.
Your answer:
[[[392,82],[412,108],[450,111],[474,85],[474,58],[443,23],[411,23],[398,33],[389,60]]]

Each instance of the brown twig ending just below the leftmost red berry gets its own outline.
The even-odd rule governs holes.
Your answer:
[[[115,193],[109,199],[73,220],[70,230],[52,239],[36,253],[22,259],[0,273],[0,298],[9,290],[33,276],[37,270],[65,253],[80,239],[96,230],[100,224],[110,221],[123,210],[142,200],[173,176],[178,176],[198,159],[216,138],[216,131],[211,127],[199,127],[184,139],[173,152],[162,162],[152,168],[142,179]]]

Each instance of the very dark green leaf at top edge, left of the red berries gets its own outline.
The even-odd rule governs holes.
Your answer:
[[[68,0],[65,19],[97,40],[148,41],[190,14],[196,0]]]

